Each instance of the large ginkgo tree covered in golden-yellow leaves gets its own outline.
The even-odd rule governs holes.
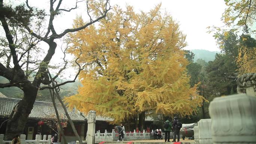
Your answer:
[[[160,7],[135,13],[116,6],[99,25],[70,34],[68,52],[87,68],[79,94],[65,98],[69,107],[95,110],[114,123],[138,119],[143,128],[147,114],[186,116],[201,105],[186,73],[185,35]],[[74,28],[84,23],[77,17]]]

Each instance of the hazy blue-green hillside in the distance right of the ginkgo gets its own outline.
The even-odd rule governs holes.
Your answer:
[[[213,61],[215,59],[216,53],[220,53],[202,49],[193,49],[191,51],[195,54],[194,62],[196,62],[197,59],[203,59],[205,62]]]

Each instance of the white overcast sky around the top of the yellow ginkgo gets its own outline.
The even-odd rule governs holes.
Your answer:
[[[32,1],[31,1],[32,2]],[[47,3],[45,1],[44,3]],[[70,7],[74,4],[74,0],[65,1],[63,7]],[[213,33],[206,33],[206,27],[216,25],[222,26],[220,21],[222,13],[226,5],[224,0],[110,0],[112,6],[119,5],[122,8],[131,5],[136,12],[143,10],[149,12],[156,4],[162,3],[162,12],[168,12],[173,18],[179,22],[180,30],[187,35],[186,41],[188,46],[185,49],[205,49],[209,51],[220,51],[216,46],[216,40]],[[60,24],[60,30],[71,27],[75,15],[83,15],[86,19],[86,11],[84,6],[72,13],[63,13],[64,15],[57,18],[55,24]]]

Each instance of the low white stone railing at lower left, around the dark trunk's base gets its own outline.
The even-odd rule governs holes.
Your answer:
[[[4,141],[3,140],[4,135],[0,135],[0,144],[12,144],[12,141]],[[36,135],[35,140],[25,140],[26,135],[21,135],[20,140],[21,144],[51,144],[51,135],[48,135],[48,138],[46,140],[46,135],[43,135],[43,140],[41,135]]]

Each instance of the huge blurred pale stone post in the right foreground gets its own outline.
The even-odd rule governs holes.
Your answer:
[[[256,97],[236,94],[210,102],[214,144],[256,144]]]

